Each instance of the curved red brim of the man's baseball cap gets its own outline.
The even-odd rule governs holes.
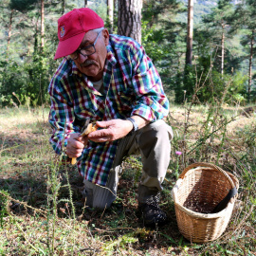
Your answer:
[[[81,34],[67,38],[64,41],[60,41],[54,56],[54,60],[67,56],[76,51],[76,49],[80,46],[85,33],[86,32],[82,32]]]

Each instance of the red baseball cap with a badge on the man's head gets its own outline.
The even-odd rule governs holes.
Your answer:
[[[89,30],[104,27],[101,17],[92,9],[73,9],[58,20],[59,45],[54,60],[73,53]]]

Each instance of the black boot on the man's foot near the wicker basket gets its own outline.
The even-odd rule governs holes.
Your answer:
[[[158,205],[159,197],[158,192],[155,196],[148,198],[146,203],[138,203],[138,210],[142,213],[145,227],[155,228],[167,223],[167,215]]]

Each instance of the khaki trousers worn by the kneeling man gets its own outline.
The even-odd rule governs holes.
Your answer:
[[[139,129],[133,135],[123,137],[119,141],[117,155],[108,176],[106,187],[84,180],[83,196],[86,205],[94,208],[109,208],[117,197],[121,162],[124,157],[140,154],[142,175],[138,185],[139,203],[162,190],[171,155],[172,128],[160,119]]]

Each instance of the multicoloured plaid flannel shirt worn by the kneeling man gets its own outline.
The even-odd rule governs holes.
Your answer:
[[[155,121],[168,114],[167,100],[154,64],[142,46],[131,38],[110,35],[101,94],[76,64],[66,59],[53,76],[50,143],[61,154],[71,133],[79,133],[86,119],[126,119],[138,115]],[[105,186],[119,140],[96,143],[89,140],[78,158],[79,173],[86,180]]]

